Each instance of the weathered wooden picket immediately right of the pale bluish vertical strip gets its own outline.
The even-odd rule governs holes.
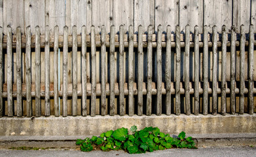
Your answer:
[[[68,59],[68,27],[64,27],[64,44],[63,44],[63,100],[62,100],[62,116],[67,116],[67,59]]]

